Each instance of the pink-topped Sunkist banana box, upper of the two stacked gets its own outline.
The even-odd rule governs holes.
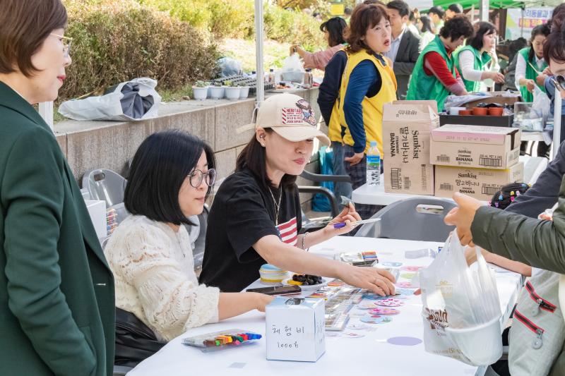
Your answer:
[[[521,134],[518,128],[448,124],[432,130],[430,162],[507,169],[518,163]]]

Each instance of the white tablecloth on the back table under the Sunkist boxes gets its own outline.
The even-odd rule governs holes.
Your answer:
[[[530,157],[523,155],[520,157],[520,162],[524,163],[524,181],[529,184],[535,183],[540,174],[547,167],[547,158],[543,157]],[[386,164],[386,162],[384,162]],[[386,193],[384,191],[385,174],[381,175],[383,179],[380,186],[369,187],[367,184],[360,186],[353,191],[352,200],[358,204],[368,205],[391,205],[393,202],[404,200],[405,198],[426,198],[434,197],[429,195],[400,195],[398,193]]]

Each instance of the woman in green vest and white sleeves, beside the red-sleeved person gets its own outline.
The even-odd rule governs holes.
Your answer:
[[[504,83],[499,65],[493,59],[496,47],[496,27],[489,22],[475,25],[475,35],[455,53],[456,66],[468,92],[484,92],[495,83]]]

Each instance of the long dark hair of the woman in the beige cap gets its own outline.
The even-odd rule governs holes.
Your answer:
[[[271,133],[273,130],[271,128],[265,128],[265,132]],[[251,171],[251,174],[253,174],[256,181],[258,181],[259,186],[264,190],[268,190],[270,187],[277,188],[267,176],[267,155],[265,147],[261,146],[256,135],[253,135],[253,138],[249,140],[244,150],[237,156],[235,171],[239,172],[245,169]],[[295,184],[296,175],[285,174],[280,181],[280,185],[283,186],[285,190],[294,190]]]

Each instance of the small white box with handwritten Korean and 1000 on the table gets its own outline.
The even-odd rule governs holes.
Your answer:
[[[268,360],[315,362],[326,352],[325,301],[276,297],[265,310]]]

